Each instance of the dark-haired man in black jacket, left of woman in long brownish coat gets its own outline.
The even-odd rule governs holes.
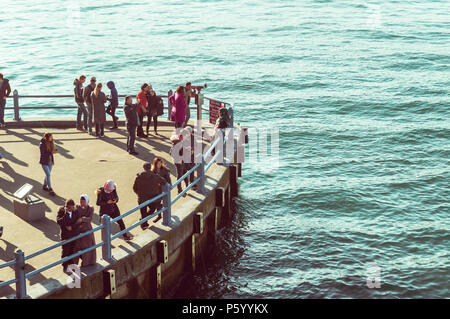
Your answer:
[[[61,240],[64,241],[80,234],[79,226],[82,222],[82,219],[80,213],[75,209],[75,202],[72,199],[66,200],[66,205],[59,209],[57,221],[58,225],[61,227]],[[61,258],[65,258],[76,253],[75,243],[76,240],[62,245]],[[64,262],[62,264],[64,272],[66,272],[67,267],[73,263],[73,259],[69,259],[68,261]]]

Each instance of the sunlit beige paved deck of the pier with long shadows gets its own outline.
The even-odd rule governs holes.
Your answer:
[[[126,149],[126,131],[105,129],[106,137],[97,139],[85,132],[75,129],[48,129],[53,133],[55,147],[55,166],[52,171],[52,186],[56,196],[51,197],[42,190],[44,172],[39,164],[39,142],[47,129],[12,128],[0,130],[0,225],[4,234],[0,238],[0,264],[14,259],[14,251],[22,249],[29,255],[60,241],[60,228],[56,223],[58,207],[63,206],[66,198],[76,202],[81,194],[88,194],[95,207],[93,226],[100,224],[98,206],[95,205],[96,188],[112,179],[117,184],[119,208],[122,213],[137,206],[137,197],[132,190],[136,173],[142,171],[145,162],[151,162],[155,156],[163,157],[171,171],[172,182],[176,181],[176,168],[168,154],[171,147],[169,136],[173,133],[171,122],[160,121],[159,134],[150,133],[149,138],[137,138],[138,156],[129,155]],[[35,222],[26,222],[13,213],[12,194],[24,183],[34,186],[33,195],[42,198],[46,205],[45,218]],[[183,183],[184,187],[184,183]],[[173,190],[172,198],[176,195]],[[188,198],[195,195],[188,193]],[[124,218],[129,226],[140,219],[135,212]],[[150,224],[153,224],[150,222]],[[119,231],[115,224],[113,234]],[[136,235],[140,228],[131,231]],[[96,232],[96,242],[100,241],[101,232]],[[113,246],[124,243],[122,239],[113,241]],[[49,251],[27,261],[26,271],[38,269],[60,258],[61,248]],[[97,249],[97,258],[101,257],[101,248]],[[31,278],[30,285],[46,278],[62,276],[62,266],[49,269]],[[14,277],[14,269],[0,269],[0,282]],[[14,294],[14,285],[0,289],[0,297]]]

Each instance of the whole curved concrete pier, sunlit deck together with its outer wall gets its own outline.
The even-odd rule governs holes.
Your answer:
[[[25,256],[60,241],[60,228],[56,223],[58,207],[66,198],[79,201],[88,194],[94,206],[93,226],[100,225],[99,207],[95,205],[95,189],[112,179],[117,184],[119,208],[122,213],[136,207],[137,197],[132,190],[134,178],[142,171],[145,162],[155,156],[165,159],[172,182],[176,181],[176,168],[169,155],[173,123],[159,121],[159,134],[136,139],[138,156],[129,155],[126,149],[126,130],[123,122],[119,130],[110,131],[105,125],[103,139],[74,129],[75,122],[66,119],[36,119],[26,123],[10,124],[0,130],[0,225],[4,234],[0,238],[0,264],[14,259],[16,249]],[[192,123],[193,124],[193,123]],[[71,127],[71,128],[69,128]],[[45,131],[53,133],[55,166],[52,186],[56,196],[42,190],[44,172],[39,164],[39,142]],[[152,131],[151,131],[152,132]],[[97,248],[97,265],[81,268],[81,288],[69,288],[68,276],[62,266],[56,266],[27,280],[27,294],[31,298],[165,298],[170,297],[184,276],[196,270],[198,258],[214,245],[215,232],[231,216],[231,199],[236,196],[233,185],[230,193],[230,176],[237,178],[236,170],[213,164],[206,176],[206,192],[190,190],[172,206],[170,226],[150,221],[150,228],[140,227],[131,233],[134,240],[112,241],[112,261],[101,259]],[[233,179],[233,182],[235,180]],[[13,213],[12,194],[24,183],[34,186],[32,194],[43,199],[45,218],[27,222]],[[183,189],[185,183],[182,184]],[[172,198],[176,196],[172,190]],[[124,218],[128,227],[140,219],[136,211]],[[112,233],[119,227],[112,225]],[[96,243],[101,232],[95,233]],[[59,260],[61,248],[48,251],[26,261],[28,273]],[[0,282],[14,278],[14,267],[0,269]],[[14,298],[15,285],[0,288],[0,298]]]

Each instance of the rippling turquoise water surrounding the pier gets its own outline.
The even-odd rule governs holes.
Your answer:
[[[280,132],[280,167],[244,164],[233,225],[177,297],[450,297],[448,1],[64,3],[3,0],[19,93],[188,79]]]

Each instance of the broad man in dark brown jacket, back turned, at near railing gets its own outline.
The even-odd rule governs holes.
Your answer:
[[[160,187],[167,183],[165,178],[151,171],[151,166],[152,165],[150,163],[144,164],[144,171],[142,173],[137,174],[136,179],[134,180],[133,190],[138,195],[139,205],[161,194]],[[141,220],[147,216],[150,216],[157,209],[160,208],[161,208],[161,199],[155,200],[154,202],[148,204],[147,206],[142,207]],[[161,215],[158,216],[158,219],[155,220],[155,222],[157,222],[159,219],[161,219]],[[148,226],[149,225],[147,222],[141,224],[142,229],[147,229]]]

